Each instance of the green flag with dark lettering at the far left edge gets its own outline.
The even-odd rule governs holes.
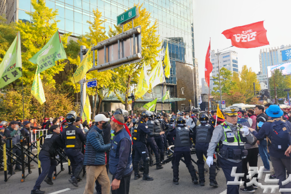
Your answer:
[[[21,77],[21,69],[20,33],[18,32],[0,64],[0,88]]]

